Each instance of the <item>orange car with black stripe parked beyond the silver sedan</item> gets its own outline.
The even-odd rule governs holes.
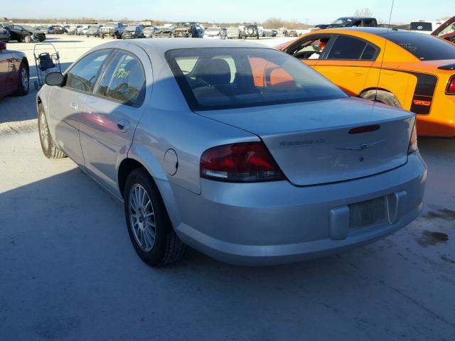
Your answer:
[[[417,114],[421,136],[455,136],[455,45],[411,31],[337,28],[277,46],[348,94]]]

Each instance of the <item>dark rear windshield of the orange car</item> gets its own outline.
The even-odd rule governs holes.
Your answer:
[[[455,59],[455,45],[421,33],[390,33],[384,36],[419,60]]]

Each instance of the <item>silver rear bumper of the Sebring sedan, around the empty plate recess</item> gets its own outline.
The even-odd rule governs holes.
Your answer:
[[[405,227],[422,211],[426,176],[414,153],[392,171],[325,185],[201,180],[196,195],[157,183],[183,242],[220,261],[272,265],[334,254]],[[387,222],[350,229],[348,205],[376,197],[390,198]]]

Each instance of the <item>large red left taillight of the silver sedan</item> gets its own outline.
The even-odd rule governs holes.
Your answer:
[[[210,148],[200,158],[200,177],[232,183],[284,180],[262,142]]]

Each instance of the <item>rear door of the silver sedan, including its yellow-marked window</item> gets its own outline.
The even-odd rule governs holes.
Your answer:
[[[82,108],[80,142],[85,168],[102,185],[119,194],[117,166],[132,144],[144,113],[146,80],[151,81],[148,55],[134,44],[117,50],[94,93]]]

